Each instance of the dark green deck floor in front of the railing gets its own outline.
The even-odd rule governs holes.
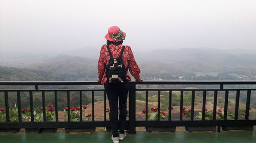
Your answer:
[[[112,142],[111,132],[99,131],[94,133],[0,133],[2,143],[82,143],[82,142]],[[137,134],[127,134],[125,142],[256,142],[256,131],[222,131],[222,132],[144,132]]]

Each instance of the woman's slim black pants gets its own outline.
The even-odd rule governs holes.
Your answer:
[[[110,122],[112,127],[112,134],[118,135],[118,129],[124,130],[126,121],[126,101],[129,91],[129,80],[123,83],[109,83],[104,84],[106,95],[110,104]],[[119,121],[118,121],[118,101],[119,101]]]

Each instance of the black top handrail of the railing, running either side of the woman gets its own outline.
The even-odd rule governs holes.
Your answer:
[[[131,84],[256,84],[256,80],[130,81]],[[98,81],[0,81],[0,85],[100,85]]]

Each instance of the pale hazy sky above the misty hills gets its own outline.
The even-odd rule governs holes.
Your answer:
[[[256,48],[255,0],[0,0],[0,52],[99,48],[112,25],[124,45]]]

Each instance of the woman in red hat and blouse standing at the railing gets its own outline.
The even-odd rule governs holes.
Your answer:
[[[111,26],[105,35],[106,45],[101,46],[98,61],[98,79],[109,99],[110,122],[112,140],[118,143],[126,136],[124,131],[126,121],[126,102],[131,77],[128,69],[136,81],[142,81],[140,69],[137,65],[130,46],[122,45],[126,34],[118,26]],[[119,107],[118,107],[119,104]],[[119,108],[119,120],[118,120]],[[118,132],[119,130],[119,132]]]

